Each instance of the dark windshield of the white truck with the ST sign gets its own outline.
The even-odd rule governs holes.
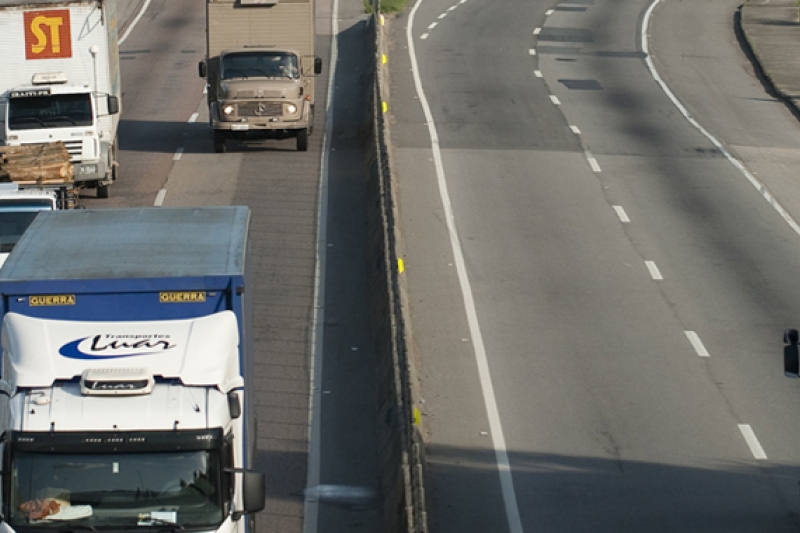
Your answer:
[[[92,125],[88,94],[23,96],[8,101],[8,129],[30,130]]]

